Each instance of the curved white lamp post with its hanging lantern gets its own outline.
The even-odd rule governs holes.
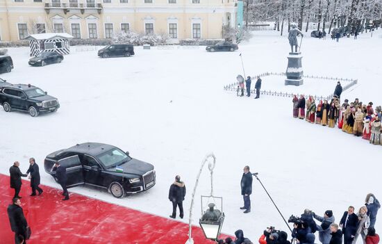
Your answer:
[[[194,191],[192,192],[192,200],[191,200],[191,206],[190,206],[190,218],[189,218],[189,228],[188,228],[188,241],[186,241],[185,244],[194,244],[194,240],[192,239],[192,209],[194,207],[194,197],[195,193],[197,191],[197,186],[199,183],[199,177],[201,174],[201,171],[204,168],[204,165],[206,162],[212,158],[213,161],[208,163],[208,170],[210,170],[211,174],[211,193],[209,196],[201,196],[201,203],[203,204],[203,197],[208,197],[208,198],[218,198],[222,201],[223,203],[223,198],[222,197],[214,197],[213,196],[213,169],[215,168],[215,163],[216,163],[216,157],[214,154],[208,154],[205,158],[204,161],[201,163],[201,167],[199,169],[199,173],[197,175],[197,181],[195,182],[194,186]],[[208,239],[216,240],[217,237],[220,234],[220,230],[222,229],[222,225],[224,222],[224,213],[222,211],[219,211],[218,209],[215,208],[215,204],[210,203],[208,204],[208,210],[202,213],[201,218],[199,219],[199,225],[201,226],[201,229],[204,231],[204,235]]]

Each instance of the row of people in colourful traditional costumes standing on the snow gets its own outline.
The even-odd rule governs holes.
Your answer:
[[[293,117],[306,120],[313,124],[321,124],[334,128],[338,126],[342,131],[362,136],[374,145],[382,145],[381,133],[381,106],[373,108],[373,103],[363,104],[358,98],[349,104],[345,99],[340,105],[340,98],[334,95],[330,102],[327,100],[319,101],[316,105],[313,96],[306,100],[304,95],[294,95]]]

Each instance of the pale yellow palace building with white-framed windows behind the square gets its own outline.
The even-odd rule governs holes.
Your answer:
[[[0,0],[0,40],[36,33],[69,33],[76,39],[114,33],[167,33],[174,40],[222,38],[236,26],[236,0]]]

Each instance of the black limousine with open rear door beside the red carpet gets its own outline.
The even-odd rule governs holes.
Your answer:
[[[54,163],[66,168],[67,187],[88,184],[107,189],[114,197],[139,193],[156,184],[153,165],[103,143],[77,144],[45,158],[45,171],[56,179]],[[57,179],[56,179],[57,180]]]

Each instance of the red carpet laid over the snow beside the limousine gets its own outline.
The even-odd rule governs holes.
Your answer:
[[[62,201],[62,191],[40,187],[44,193],[30,197],[29,181],[23,181],[20,196],[24,215],[31,226],[28,244],[37,243],[158,243],[184,244],[188,225],[142,213],[123,206],[94,200],[75,193]],[[70,190],[69,190],[70,192]],[[9,177],[0,174],[0,243],[14,243],[7,207],[15,191],[9,187]],[[199,227],[192,228],[194,243],[214,243],[204,238]]]

